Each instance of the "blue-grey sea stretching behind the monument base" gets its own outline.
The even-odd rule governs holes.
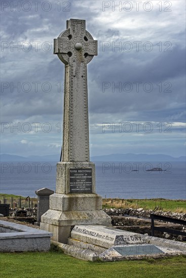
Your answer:
[[[96,193],[103,198],[186,199],[184,162],[95,162]],[[147,171],[159,167],[162,171]],[[55,162],[2,162],[1,193],[37,197],[55,191]]]

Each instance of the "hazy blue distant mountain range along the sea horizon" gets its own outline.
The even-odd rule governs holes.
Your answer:
[[[18,155],[9,155],[9,154],[2,154],[0,155],[1,162],[4,161],[53,161],[53,162],[59,162],[60,161],[60,155],[46,155],[46,156],[18,156]],[[172,157],[169,155],[147,155],[147,154],[110,154],[110,155],[102,155],[102,156],[92,156],[91,161],[185,161],[185,156],[180,157]]]

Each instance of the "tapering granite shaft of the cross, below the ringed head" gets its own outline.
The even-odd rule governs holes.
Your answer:
[[[62,161],[89,161],[87,66],[65,66]]]

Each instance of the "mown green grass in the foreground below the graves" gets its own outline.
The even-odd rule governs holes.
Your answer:
[[[184,256],[139,261],[89,262],[61,252],[1,253],[3,278],[183,278]]]

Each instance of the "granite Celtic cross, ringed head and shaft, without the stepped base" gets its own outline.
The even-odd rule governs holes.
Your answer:
[[[85,20],[70,19],[54,39],[54,54],[65,64],[62,161],[89,161],[87,64],[97,55],[97,40]]]

